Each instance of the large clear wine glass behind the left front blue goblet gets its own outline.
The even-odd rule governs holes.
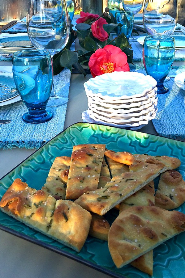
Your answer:
[[[70,20],[66,0],[31,0],[27,13],[27,32],[36,49],[47,50],[53,56],[68,43]],[[48,107],[68,102],[65,96],[56,95],[54,85]]]

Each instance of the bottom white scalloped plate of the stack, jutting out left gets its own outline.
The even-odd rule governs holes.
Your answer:
[[[89,116],[88,110],[86,110],[86,111],[82,112],[82,120],[86,123],[96,123],[96,124],[98,123],[98,124],[110,125],[110,126],[113,126],[113,127],[129,128],[129,129],[132,129],[132,130],[137,130],[137,129],[142,128],[146,124],[148,124],[148,122],[150,120],[154,119],[156,117],[156,114],[157,114],[157,108],[156,108],[156,111],[154,112],[154,114],[151,115],[148,120],[142,120],[138,123],[133,123],[133,124],[114,124],[114,123],[108,123],[108,122],[105,122],[105,121],[102,121],[102,120],[99,120],[99,119],[96,119],[96,118],[94,120]]]

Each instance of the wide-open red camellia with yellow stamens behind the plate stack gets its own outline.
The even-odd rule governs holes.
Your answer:
[[[88,65],[92,77],[113,71],[130,71],[126,54],[114,45],[97,49],[91,55]]]

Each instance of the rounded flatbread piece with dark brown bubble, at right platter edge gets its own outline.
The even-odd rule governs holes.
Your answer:
[[[178,208],[184,202],[185,181],[182,175],[175,170],[162,173],[155,194],[155,205],[168,210]]]

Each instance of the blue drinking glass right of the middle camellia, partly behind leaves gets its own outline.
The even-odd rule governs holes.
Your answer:
[[[115,18],[116,23],[122,25],[117,26],[117,35],[123,33],[129,39],[134,26],[134,13],[132,11],[117,11]]]

